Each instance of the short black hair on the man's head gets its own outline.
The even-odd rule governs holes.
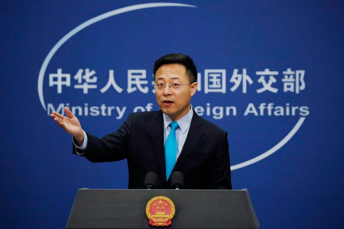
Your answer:
[[[197,67],[190,56],[182,53],[167,54],[155,61],[153,67],[153,74],[155,79],[155,73],[162,65],[168,64],[181,64],[186,68],[186,72],[189,75],[190,83],[197,82]]]

